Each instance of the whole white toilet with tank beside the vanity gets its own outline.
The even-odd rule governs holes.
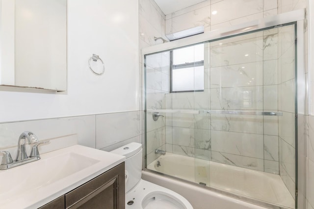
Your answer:
[[[126,209],[193,209],[180,194],[141,179],[142,152],[136,142],[111,151],[126,157]]]

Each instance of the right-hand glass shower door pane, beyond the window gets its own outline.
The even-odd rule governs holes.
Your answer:
[[[294,208],[294,25],[209,44],[210,187]]]

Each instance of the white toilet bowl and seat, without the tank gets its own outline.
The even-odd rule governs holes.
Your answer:
[[[126,209],[193,209],[193,207],[180,194],[155,183],[140,180],[126,193]]]

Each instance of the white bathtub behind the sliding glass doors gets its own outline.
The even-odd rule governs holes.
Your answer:
[[[262,200],[275,205],[272,207],[270,204],[265,204],[269,208],[294,208],[293,197],[280,176],[276,174],[172,153],[158,157],[147,168],[189,182],[206,184],[213,188],[212,190],[227,191],[230,196],[244,197],[242,199],[250,202]],[[195,209],[262,209],[262,207],[218,194],[207,188],[151,172],[143,171],[143,179],[178,192],[189,200]]]

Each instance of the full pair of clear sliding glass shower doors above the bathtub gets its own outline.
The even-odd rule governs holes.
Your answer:
[[[145,55],[146,168],[294,208],[295,25]]]

